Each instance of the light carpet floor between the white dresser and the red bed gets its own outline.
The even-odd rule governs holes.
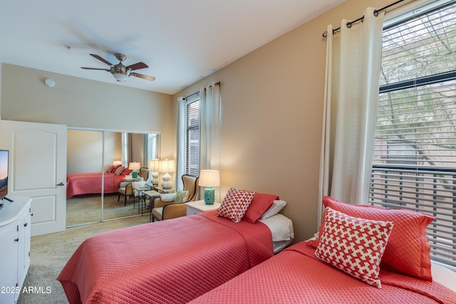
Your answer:
[[[136,210],[136,214],[138,214],[138,209]],[[56,278],[81,242],[96,234],[145,224],[149,221],[149,214],[144,214],[144,216],[135,216],[128,219],[104,221],[98,224],[68,228],[66,231],[56,234],[34,236],[31,238],[31,265],[28,268],[28,274],[22,290],[24,290],[24,287],[31,287],[34,290],[38,290],[38,293],[21,293],[18,303],[68,303],[65,293],[63,293],[63,288]],[[46,293],[46,290],[50,290],[50,293]]]

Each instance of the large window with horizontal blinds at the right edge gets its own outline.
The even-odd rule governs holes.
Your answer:
[[[383,29],[370,203],[435,216],[431,258],[456,266],[456,3]]]

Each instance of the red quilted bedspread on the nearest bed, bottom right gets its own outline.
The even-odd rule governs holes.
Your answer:
[[[191,303],[456,303],[436,282],[389,271],[380,280],[381,289],[327,266],[301,242]]]

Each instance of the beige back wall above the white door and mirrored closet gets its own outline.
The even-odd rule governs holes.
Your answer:
[[[161,132],[163,157],[175,154],[170,95],[1,64],[1,118],[97,130]],[[56,81],[48,88],[46,78]]]

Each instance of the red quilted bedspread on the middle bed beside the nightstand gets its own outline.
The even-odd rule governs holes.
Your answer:
[[[186,303],[274,255],[266,225],[215,214],[94,236],[57,279],[70,303]]]

